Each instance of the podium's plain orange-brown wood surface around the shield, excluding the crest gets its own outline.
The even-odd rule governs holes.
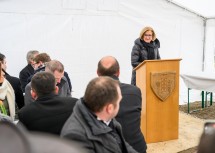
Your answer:
[[[141,130],[147,143],[178,138],[179,61],[150,60],[136,69],[137,86],[142,92]],[[165,100],[160,100],[151,88],[151,72],[176,72],[175,88]]]

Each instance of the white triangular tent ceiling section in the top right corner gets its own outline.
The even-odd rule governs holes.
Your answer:
[[[214,0],[171,0],[171,2],[191,10],[205,18],[215,18]]]

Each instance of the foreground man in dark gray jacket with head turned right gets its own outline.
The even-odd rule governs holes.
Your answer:
[[[125,142],[121,126],[114,119],[121,98],[117,81],[109,77],[93,79],[61,136],[79,142],[89,153],[137,153]]]

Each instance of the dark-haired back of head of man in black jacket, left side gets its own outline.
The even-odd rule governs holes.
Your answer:
[[[31,88],[38,97],[55,93],[56,81],[52,73],[49,72],[38,72],[31,80]]]

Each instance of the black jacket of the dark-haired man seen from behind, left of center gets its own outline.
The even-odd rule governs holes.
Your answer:
[[[28,130],[60,135],[76,101],[76,98],[55,94],[41,96],[18,112],[19,121]]]

